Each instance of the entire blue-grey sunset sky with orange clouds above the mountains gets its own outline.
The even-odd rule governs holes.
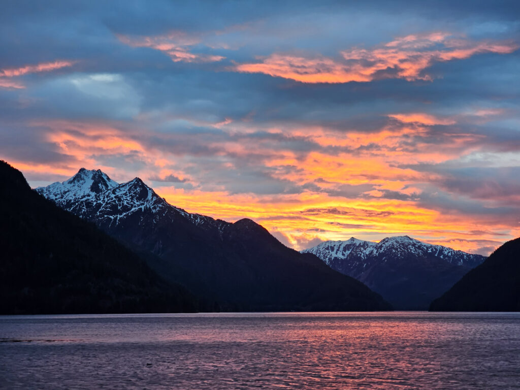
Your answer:
[[[520,5],[3,1],[0,159],[301,250],[520,236]]]

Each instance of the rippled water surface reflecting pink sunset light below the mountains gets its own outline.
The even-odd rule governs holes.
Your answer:
[[[0,388],[520,388],[520,314],[7,316]]]

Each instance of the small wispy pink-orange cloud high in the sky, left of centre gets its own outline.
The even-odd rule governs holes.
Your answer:
[[[208,54],[194,54],[190,47],[200,43],[200,40],[190,37],[183,32],[171,32],[166,35],[129,37],[117,35],[125,45],[133,47],[151,47],[170,56],[173,62],[216,62],[225,57]]]

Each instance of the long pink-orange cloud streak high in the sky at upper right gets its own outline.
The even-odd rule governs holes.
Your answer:
[[[518,48],[513,42],[450,40],[450,36],[445,32],[408,35],[380,47],[342,51],[343,60],[272,54],[261,62],[237,64],[233,70],[302,83],[369,82],[378,78],[432,80],[423,72],[434,62],[464,59],[480,53],[508,54]]]

